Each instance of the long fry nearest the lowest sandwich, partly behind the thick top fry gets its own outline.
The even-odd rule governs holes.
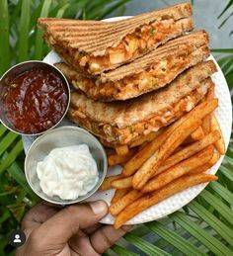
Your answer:
[[[190,117],[197,117],[200,120],[206,115],[211,113],[217,107],[218,101],[213,99],[211,101],[205,101],[196,106],[190,113],[183,116],[180,120],[173,123],[169,128],[167,128],[163,133],[158,135],[156,139],[149,142],[141,150],[139,150],[124,166],[122,174],[124,176],[131,176],[135,171],[141,167],[141,165],[150,158],[153,153],[167,140],[168,136],[178,128],[184,121]]]

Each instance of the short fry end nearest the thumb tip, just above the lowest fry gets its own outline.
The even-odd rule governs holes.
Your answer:
[[[116,201],[115,204],[110,206],[110,213],[112,215],[116,215],[120,213],[124,208],[126,208],[129,204],[137,200],[142,196],[142,193],[137,190],[131,190],[126,195],[124,195],[121,199]]]

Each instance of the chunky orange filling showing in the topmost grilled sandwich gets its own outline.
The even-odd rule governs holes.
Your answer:
[[[178,26],[173,19],[143,25],[132,34],[125,36],[116,47],[109,47],[103,56],[82,54],[73,48],[64,49],[63,45],[55,42],[52,36],[45,35],[45,38],[70,65],[75,63],[82,69],[88,69],[90,73],[98,73],[110,66],[126,62],[138,53],[146,53],[155,43],[163,41],[177,29]]]

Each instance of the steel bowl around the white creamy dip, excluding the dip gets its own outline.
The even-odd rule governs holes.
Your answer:
[[[78,145],[85,143],[89,146],[90,152],[97,163],[99,181],[96,186],[85,196],[75,200],[62,200],[59,197],[48,197],[39,186],[37,165],[44,157],[56,147]],[[86,200],[91,197],[103,183],[107,174],[108,162],[105,149],[99,140],[83,128],[61,127],[54,128],[39,136],[31,145],[25,159],[25,175],[33,191],[43,200],[52,204],[70,205]],[[51,170],[52,172],[52,170]]]

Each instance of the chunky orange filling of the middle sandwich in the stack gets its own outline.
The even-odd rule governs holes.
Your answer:
[[[187,49],[179,58],[176,55],[164,58],[151,65],[149,69],[116,82],[101,83],[98,80],[77,76],[71,78],[71,83],[76,89],[84,91],[94,99],[108,101],[132,98],[138,96],[138,93],[158,89],[171,82],[188,65],[191,54],[189,51]],[[67,74],[67,77],[69,79],[71,76]]]

